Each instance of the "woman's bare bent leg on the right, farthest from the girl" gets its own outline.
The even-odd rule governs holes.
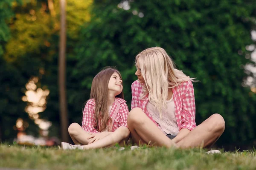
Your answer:
[[[187,136],[177,142],[179,147],[206,147],[214,144],[225,129],[225,121],[220,114],[213,114],[195,127]]]

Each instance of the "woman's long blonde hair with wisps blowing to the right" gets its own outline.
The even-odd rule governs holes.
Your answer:
[[[136,66],[137,62],[140,63],[141,75],[145,80],[141,98],[148,94],[149,101],[157,108],[162,118],[162,108],[167,108],[168,89],[195,78],[190,78],[181,70],[177,70],[172,59],[160,47],[143,50],[136,56]]]

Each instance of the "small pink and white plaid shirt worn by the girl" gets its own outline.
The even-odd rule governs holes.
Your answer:
[[[129,109],[125,102],[126,101],[124,99],[116,97],[115,102],[112,105],[112,108],[110,111],[110,117],[112,119],[112,123],[109,126],[110,129],[112,129],[112,132],[114,132],[120,126],[127,127],[127,116],[129,113]],[[95,100],[90,99],[88,100],[88,102],[84,107],[83,122],[82,122],[82,128],[88,133],[99,133],[99,131],[97,131],[94,128],[94,125],[96,123],[94,119],[94,113],[95,113]]]

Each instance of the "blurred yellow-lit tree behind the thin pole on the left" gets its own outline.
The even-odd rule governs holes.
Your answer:
[[[73,108],[76,107],[73,107],[72,98],[73,92],[79,86],[70,77],[73,65],[77,61],[73,48],[78,41],[81,25],[90,20],[89,7],[91,3],[92,0],[67,0],[67,94],[70,113],[73,113]],[[47,110],[39,114],[39,118],[52,121],[50,136],[60,136],[57,77],[60,30],[59,0],[23,1],[22,4],[14,4],[12,8],[15,13],[9,21],[12,36],[5,45],[6,51],[3,58],[11,66],[17,65],[19,74],[22,74],[17,75],[23,79],[23,81],[18,81],[23,89],[21,96],[27,90],[26,82],[33,77],[38,77],[37,88],[49,89]],[[10,73],[10,75],[12,74]],[[21,101],[21,97],[19,101]],[[26,103],[20,102],[20,104],[22,104],[20,111],[24,111]],[[78,115],[81,113],[82,103],[77,105],[79,105],[76,110]],[[75,121],[71,117],[70,122]],[[30,132],[33,129],[28,128],[27,130]],[[10,133],[14,132],[14,130],[10,130]]]

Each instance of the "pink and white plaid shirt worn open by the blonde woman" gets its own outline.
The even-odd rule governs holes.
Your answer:
[[[143,112],[157,125],[157,122],[151,117],[146,109],[148,97],[140,99],[143,93],[143,87],[139,80],[136,80],[131,85],[131,109],[141,108]],[[175,117],[179,130],[185,128],[192,130],[196,127],[195,124],[195,97],[192,82],[182,82],[180,85],[172,88],[173,100],[175,104]],[[148,94],[147,94],[148,96]],[[158,125],[157,125],[158,126]]]

